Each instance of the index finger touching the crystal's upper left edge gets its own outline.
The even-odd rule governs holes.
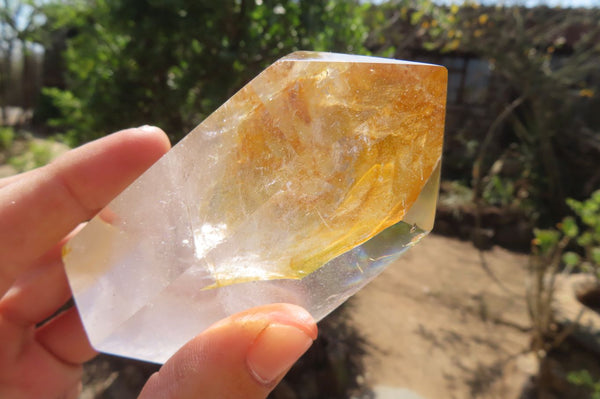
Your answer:
[[[170,147],[152,127],[70,151],[0,188],[0,297],[16,277],[90,219]]]

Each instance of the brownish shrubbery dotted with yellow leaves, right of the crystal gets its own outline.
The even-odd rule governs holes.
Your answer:
[[[532,217],[555,220],[567,197],[585,198],[600,184],[600,10],[401,0],[377,12],[383,28],[368,45],[376,53],[487,64],[483,102],[448,111],[446,159],[458,154],[465,169],[473,165],[476,197],[502,197],[512,186],[511,202],[528,200]],[[507,159],[520,165],[519,181],[497,175]]]

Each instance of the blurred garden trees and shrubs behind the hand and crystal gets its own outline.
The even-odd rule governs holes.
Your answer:
[[[3,0],[0,173],[128,126],[177,141],[295,50],[432,62],[449,71],[437,231],[533,250],[541,277],[597,267],[600,8],[486,4]]]

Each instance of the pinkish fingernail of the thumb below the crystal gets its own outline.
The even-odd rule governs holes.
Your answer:
[[[312,342],[296,327],[271,324],[253,342],[246,363],[258,382],[270,385],[292,367]]]

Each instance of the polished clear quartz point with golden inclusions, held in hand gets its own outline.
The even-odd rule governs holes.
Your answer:
[[[299,52],[275,62],[64,248],[96,349],[164,362],[217,320],[319,320],[433,226],[446,70]]]

